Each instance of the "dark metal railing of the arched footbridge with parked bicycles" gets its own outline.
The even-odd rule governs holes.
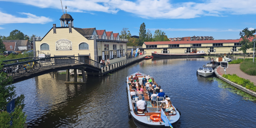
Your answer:
[[[38,72],[40,70],[62,67],[62,66],[73,66],[77,64],[88,64],[92,67],[96,67],[100,70],[100,63],[93,61],[84,56],[76,57],[49,57],[49,58],[34,58],[33,60],[22,61],[13,64],[4,65],[1,72],[7,73],[8,76],[20,76],[26,75],[27,73]]]

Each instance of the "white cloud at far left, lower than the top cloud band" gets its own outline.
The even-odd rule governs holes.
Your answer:
[[[3,19],[1,20],[1,24],[5,24],[5,23],[48,23],[48,22],[52,22],[53,20],[48,18],[48,17],[44,17],[44,16],[36,16],[33,15],[31,13],[25,13],[25,12],[21,12],[21,15],[26,15],[26,17],[16,17],[14,15],[10,15],[7,13],[3,13],[0,12],[0,17]]]

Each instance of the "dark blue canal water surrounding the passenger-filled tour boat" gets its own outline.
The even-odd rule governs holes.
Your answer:
[[[128,119],[126,77],[153,76],[181,112],[175,128],[256,126],[256,98],[215,76],[196,74],[211,58],[143,60],[86,84],[64,84],[65,74],[44,74],[15,83],[25,95],[28,128],[136,128]]]

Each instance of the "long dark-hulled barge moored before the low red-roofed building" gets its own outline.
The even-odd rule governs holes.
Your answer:
[[[197,51],[196,49],[192,50],[192,52],[190,52],[190,53],[168,53],[168,52],[167,53],[151,52],[151,55],[153,55],[154,57],[171,57],[171,58],[175,58],[175,57],[203,56],[204,54],[206,54],[204,51]]]

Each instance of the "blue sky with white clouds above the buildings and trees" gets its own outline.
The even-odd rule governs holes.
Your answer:
[[[62,0],[74,26],[139,35],[140,24],[168,38],[213,36],[238,39],[239,32],[256,28],[255,0]],[[60,26],[60,0],[0,0],[0,35],[18,29],[43,37],[52,24]]]

